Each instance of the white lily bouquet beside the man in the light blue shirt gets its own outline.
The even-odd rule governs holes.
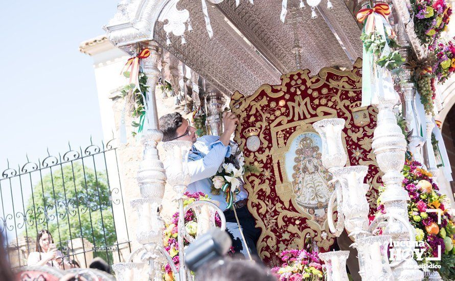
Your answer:
[[[245,165],[245,158],[238,144],[231,142],[229,145],[231,155],[224,158],[224,163],[212,177],[211,190],[214,195],[219,195],[221,191],[225,193],[228,209],[235,202],[235,195],[240,193],[240,185],[243,184],[242,178],[245,172],[259,173],[256,167]]]

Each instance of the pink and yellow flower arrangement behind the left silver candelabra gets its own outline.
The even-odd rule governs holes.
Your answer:
[[[184,194],[187,199],[184,200],[184,207],[187,205],[193,203],[194,201],[199,201],[199,200],[210,200],[210,198],[206,195],[203,194],[202,192],[196,192],[196,193],[189,193],[186,192]],[[165,250],[169,253],[169,255],[172,257],[172,261],[174,261],[175,267],[178,270],[178,265],[179,265],[179,260],[178,260],[178,242],[177,242],[177,237],[178,237],[178,212],[176,212],[172,216],[172,220],[169,223],[166,223],[166,229],[163,233],[163,245],[165,247]],[[217,227],[221,227],[221,220],[218,216],[215,216],[215,225]],[[196,219],[196,214],[194,214],[193,210],[188,210],[187,213],[185,214],[185,228],[188,232],[189,235],[191,235],[193,238],[196,238],[196,233],[197,233],[197,219]],[[184,246],[188,246],[190,243],[184,239]],[[229,254],[234,253],[234,248],[231,247],[231,250]],[[166,281],[172,281],[175,279],[174,273],[172,272],[171,266],[167,264],[164,268],[164,275],[163,279]]]

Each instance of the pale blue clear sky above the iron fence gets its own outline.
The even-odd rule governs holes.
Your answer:
[[[102,139],[92,58],[81,41],[104,33],[115,0],[2,2],[0,172]]]

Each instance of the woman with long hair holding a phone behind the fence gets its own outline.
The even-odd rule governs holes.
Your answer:
[[[63,254],[57,250],[51,233],[46,229],[38,231],[36,251],[29,254],[27,265],[47,265],[59,269],[73,268],[69,262],[63,259]]]

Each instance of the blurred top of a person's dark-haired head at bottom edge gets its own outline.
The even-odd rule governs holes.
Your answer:
[[[276,281],[263,265],[247,260],[224,259],[196,272],[196,281]]]

